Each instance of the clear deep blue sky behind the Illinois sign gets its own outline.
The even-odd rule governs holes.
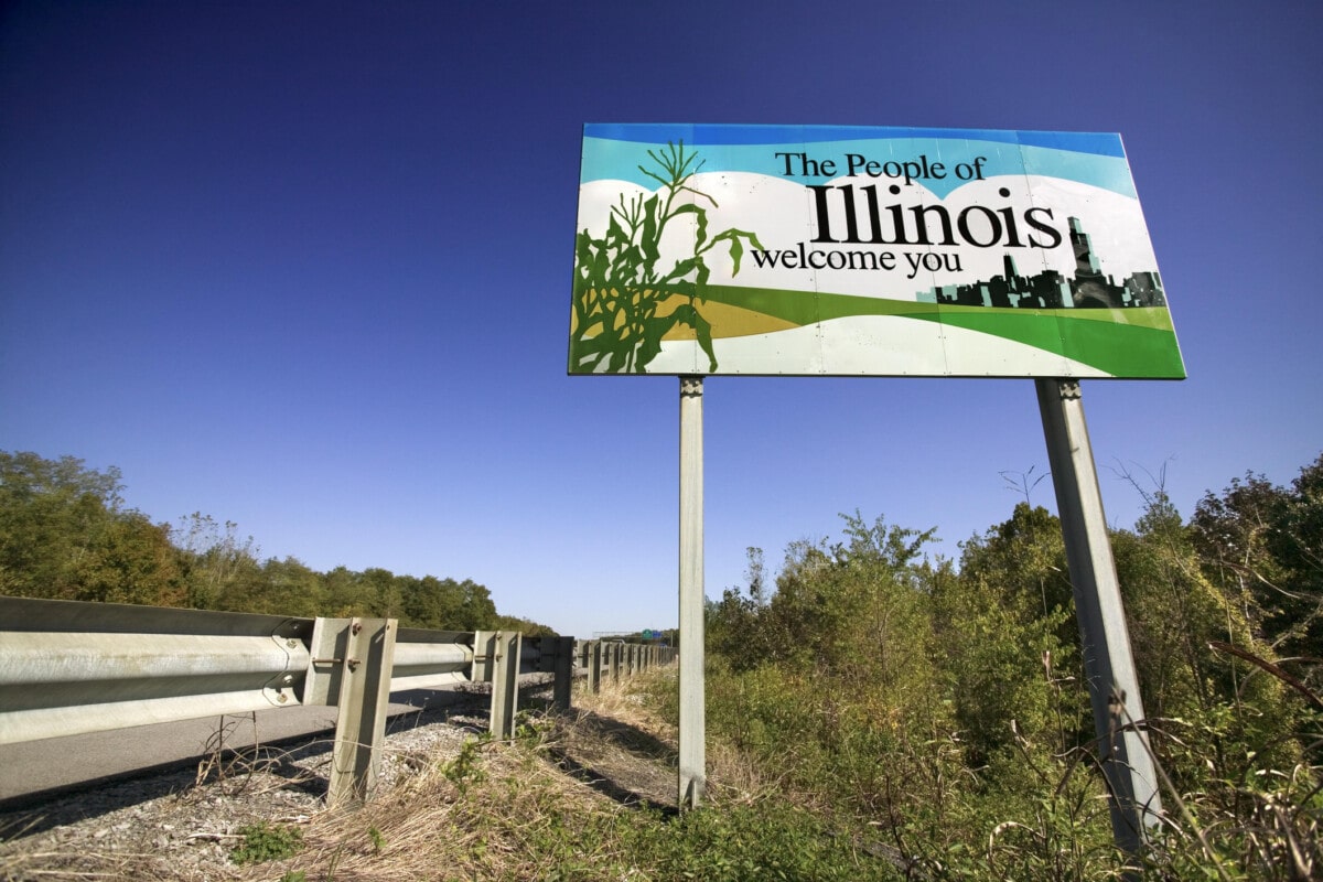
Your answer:
[[[669,627],[679,382],[565,374],[582,124],[1115,131],[1189,380],[1085,405],[1109,520],[1118,464],[1188,516],[1323,448],[1320,44],[1318,3],[8,3],[0,450],[263,557]],[[856,508],[958,555],[1046,471],[1028,381],[705,402],[710,596]]]

